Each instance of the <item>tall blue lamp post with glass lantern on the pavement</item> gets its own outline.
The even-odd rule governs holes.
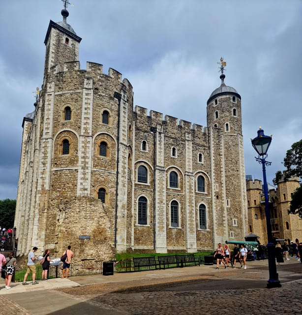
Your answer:
[[[264,131],[259,127],[257,131],[258,136],[252,140],[252,146],[258,153],[258,158],[256,161],[259,164],[262,164],[262,171],[263,171],[263,186],[264,186],[264,197],[265,197],[265,216],[267,220],[267,231],[268,231],[268,259],[269,259],[269,273],[270,279],[268,280],[267,287],[280,287],[280,280],[278,279],[277,268],[276,268],[276,260],[274,249],[275,246],[272,242],[272,225],[271,225],[271,215],[270,215],[270,208],[269,208],[269,195],[268,195],[268,184],[267,184],[267,176],[266,176],[266,169],[265,166],[269,166],[272,162],[268,162],[265,159],[268,157],[267,152],[272,142],[272,136],[266,136]]]

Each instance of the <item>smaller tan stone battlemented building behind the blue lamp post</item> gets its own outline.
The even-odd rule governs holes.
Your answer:
[[[302,240],[302,220],[298,215],[288,214],[291,196],[299,187],[299,177],[287,181],[282,179],[277,188],[269,187],[270,217],[273,239],[294,241]],[[261,244],[267,244],[267,223],[265,215],[265,199],[260,180],[246,182],[248,230],[259,236]],[[300,241],[301,242],[301,241]]]

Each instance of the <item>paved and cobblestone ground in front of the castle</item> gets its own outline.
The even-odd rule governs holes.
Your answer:
[[[0,295],[0,315],[225,315],[225,306],[228,312],[236,306],[235,312],[244,315],[302,315],[302,264],[277,270],[282,286],[272,289],[266,288],[268,267],[258,265]]]

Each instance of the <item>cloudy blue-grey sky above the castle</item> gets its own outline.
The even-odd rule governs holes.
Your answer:
[[[70,0],[69,23],[86,62],[112,67],[134,89],[134,105],[206,126],[220,85],[242,96],[245,172],[262,179],[250,138],[273,135],[268,182],[302,138],[301,0]],[[60,0],[0,0],[0,199],[17,194],[22,120],[41,88],[44,38],[60,22]]]

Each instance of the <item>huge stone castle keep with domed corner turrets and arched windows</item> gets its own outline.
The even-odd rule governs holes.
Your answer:
[[[23,120],[17,254],[33,246],[75,260],[116,252],[197,252],[243,240],[248,215],[241,96],[224,83],[207,126],[133,108],[121,73],[88,62],[61,11],[50,21],[35,109]],[[223,70],[223,67],[222,67]],[[210,93],[209,93],[210,94]]]

